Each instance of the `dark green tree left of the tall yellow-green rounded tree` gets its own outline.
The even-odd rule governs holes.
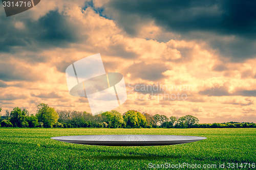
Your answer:
[[[25,128],[28,127],[28,122],[26,121],[26,114],[28,110],[20,109],[18,107],[13,108],[10,114],[10,122],[13,127]]]

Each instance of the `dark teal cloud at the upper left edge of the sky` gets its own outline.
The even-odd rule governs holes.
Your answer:
[[[23,29],[15,27],[17,21],[24,25]],[[80,41],[77,26],[78,24],[74,23],[70,16],[60,14],[57,10],[49,11],[35,21],[15,17],[1,18],[0,52],[15,53],[25,47],[29,48],[29,51],[39,51],[54,46],[65,47],[69,43]],[[13,47],[22,47],[22,49]]]

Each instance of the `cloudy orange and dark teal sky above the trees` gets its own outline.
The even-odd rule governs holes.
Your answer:
[[[255,8],[254,0],[42,0],[6,17],[1,6],[0,107],[90,112],[69,94],[65,70],[100,53],[106,72],[124,76],[122,113],[255,123]]]

